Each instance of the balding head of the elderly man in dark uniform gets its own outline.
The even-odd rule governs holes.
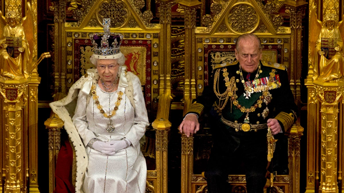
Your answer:
[[[239,51],[235,49],[235,57],[241,68],[246,72],[254,72],[262,56],[257,39],[250,37],[240,39],[238,48]]]

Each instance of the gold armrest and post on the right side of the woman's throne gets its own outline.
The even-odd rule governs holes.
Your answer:
[[[156,193],[167,193],[168,182],[168,134],[171,123],[169,122],[169,109],[171,97],[169,94],[159,96],[157,119],[152,123],[155,129],[155,161],[157,166],[157,190]]]

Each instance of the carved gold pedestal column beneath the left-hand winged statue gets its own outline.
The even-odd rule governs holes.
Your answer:
[[[3,98],[2,114],[4,154],[2,154],[2,177],[4,193],[26,192],[25,168],[28,159],[25,153],[24,125],[25,105],[27,102],[28,83],[25,80],[0,80],[1,98]]]

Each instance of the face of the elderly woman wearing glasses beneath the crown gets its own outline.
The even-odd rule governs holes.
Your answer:
[[[117,76],[119,65],[117,59],[97,60],[97,69],[101,79],[105,82],[114,82]]]

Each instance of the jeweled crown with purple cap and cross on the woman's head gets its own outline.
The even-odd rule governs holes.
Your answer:
[[[110,32],[110,24],[110,18],[103,18],[104,33],[89,34],[95,55],[109,56],[120,53],[123,35]]]

